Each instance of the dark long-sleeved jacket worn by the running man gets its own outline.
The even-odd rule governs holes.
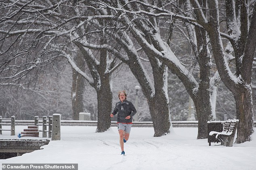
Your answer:
[[[113,115],[116,115],[117,113],[118,123],[132,123],[132,116],[134,116],[137,111],[132,102],[124,100],[123,102],[119,101],[115,104]],[[130,116],[131,118],[125,119],[127,116]]]

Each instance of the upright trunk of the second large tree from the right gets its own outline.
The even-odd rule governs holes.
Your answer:
[[[197,95],[194,95],[195,110],[198,119],[198,133],[197,139],[208,138],[207,122],[213,119],[212,109],[215,106],[211,100],[211,69],[212,60],[210,50],[208,49],[207,33],[199,27],[195,27],[195,34],[197,38],[197,60],[200,67],[200,81]]]

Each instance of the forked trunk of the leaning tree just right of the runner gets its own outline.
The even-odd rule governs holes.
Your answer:
[[[131,57],[130,57],[131,59]],[[157,63],[157,59],[150,58],[151,65]],[[164,64],[162,66],[152,66],[154,76],[154,91],[149,90],[149,82],[145,82],[147,77],[145,73],[141,71],[140,65],[135,62],[137,60],[131,59],[129,66],[141,85],[143,94],[148,100],[149,112],[153,121],[154,137],[159,137],[170,133],[170,110],[169,110],[169,99],[166,95],[167,92],[167,76],[168,68]],[[155,62],[154,62],[155,61]],[[135,64],[136,63],[136,64]],[[134,67],[136,66],[136,67]],[[143,75],[143,76],[142,76]],[[142,80],[143,79],[143,80]],[[152,96],[153,94],[153,96]]]

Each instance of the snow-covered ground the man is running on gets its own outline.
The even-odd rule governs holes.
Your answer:
[[[26,127],[15,128],[17,134]],[[0,163],[77,163],[79,170],[256,170],[255,133],[250,142],[225,147],[219,143],[209,146],[207,139],[196,139],[195,127],[175,127],[170,135],[162,137],[153,137],[153,127],[132,127],[130,139],[124,144],[126,156],[121,156],[117,127],[104,133],[95,133],[95,129],[62,126],[60,141],[50,141],[42,150]],[[10,136],[10,131],[0,135],[0,139],[11,138],[18,137]]]

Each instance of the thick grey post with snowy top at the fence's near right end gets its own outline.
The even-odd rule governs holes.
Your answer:
[[[52,141],[61,140],[61,115],[52,115]]]

